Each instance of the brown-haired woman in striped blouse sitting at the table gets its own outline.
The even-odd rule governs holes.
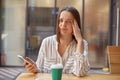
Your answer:
[[[82,38],[79,12],[71,6],[64,7],[58,14],[56,35],[43,40],[38,59],[25,62],[32,73],[50,72],[52,64],[63,64],[64,73],[85,76],[89,70],[88,44]]]

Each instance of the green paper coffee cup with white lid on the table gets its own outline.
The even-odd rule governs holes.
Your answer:
[[[61,80],[62,78],[62,64],[54,64],[51,66],[52,80]]]

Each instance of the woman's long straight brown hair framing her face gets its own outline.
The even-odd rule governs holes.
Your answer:
[[[62,11],[68,11],[70,13],[72,13],[72,15],[74,16],[75,20],[77,21],[77,24],[81,30],[81,22],[80,22],[80,14],[77,11],[76,8],[72,7],[72,6],[65,6],[63,7],[60,12],[58,13],[57,16],[57,27],[56,27],[56,35],[57,35],[57,41],[60,42],[60,30],[59,30],[59,18],[60,18],[60,14]],[[75,37],[73,36],[73,38],[75,39]]]

